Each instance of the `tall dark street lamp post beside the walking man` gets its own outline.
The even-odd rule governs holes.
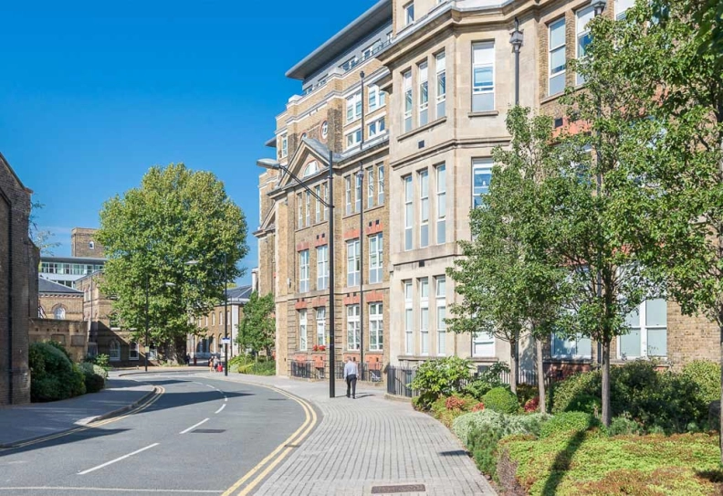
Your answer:
[[[361,112],[363,113],[363,112]],[[292,173],[288,167],[279,164],[276,160],[265,158],[257,160],[257,165],[264,169],[272,171],[283,171],[290,175],[297,184],[301,185],[310,195],[313,195],[321,205],[329,208],[329,397],[336,396],[335,392],[335,350],[334,350],[334,153],[329,151],[329,202],[324,201],[320,195],[317,195],[308,185],[305,185],[296,174]],[[360,243],[361,245],[361,243]]]

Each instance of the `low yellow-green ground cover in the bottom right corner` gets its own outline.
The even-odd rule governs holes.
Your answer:
[[[718,435],[609,438],[592,429],[541,440],[510,437],[499,447],[517,464],[517,480],[531,495],[723,493]]]

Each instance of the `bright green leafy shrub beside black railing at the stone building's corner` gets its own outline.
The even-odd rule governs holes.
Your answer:
[[[411,387],[419,392],[420,405],[428,408],[439,396],[451,396],[469,377],[470,362],[457,356],[428,360],[417,369]]]

